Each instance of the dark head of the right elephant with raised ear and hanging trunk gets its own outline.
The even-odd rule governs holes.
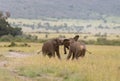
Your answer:
[[[64,40],[63,40],[64,54],[67,54],[66,48],[69,50],[70,43],[72,43],[72,42],[74,42],[74,41],[78,41],[78,39],[79,39],[79,35],[76,35],[76,36],[73,37],[73,38],[69,38],[69,39],[64,39]]]

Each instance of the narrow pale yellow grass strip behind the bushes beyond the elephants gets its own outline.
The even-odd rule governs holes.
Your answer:
[[[97,40],[97,38],[99,38],[99,36],[95,36],[93,34],[74,34],[74,33],[26,33],[26,34],[30,34],[33,36],[37,36],[39,39],[51,39],[51,38],[55,38],[55,37],[66,37],[66,38],[71,38],[74,37],[75,35],[79,35],[79,40]],[[46,37],[47,35],[47,37]],[[108,34],[106,36],[106,39],[108,40],[120,40],[120,35],[115,35],[115,34]]]

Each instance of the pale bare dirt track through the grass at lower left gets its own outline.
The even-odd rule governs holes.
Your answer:
[[[12,59],[16,59],[16,58],[25,58],[25,57],[29,57],[32,56],[33,54],[28,54],[28,53],[24,53],[24,52],[18,52],[18,51],[9,51],[7,54],[4,55],[4,57],[6,58],[12,58]],[[8,70],[11,75],[15,76],[16,78],[22,80],[22,81],[34,81],[34,79],[29,78],[29,77],[25,77],[25,76],[19,76],[16,71],[14,70],[14,67],[9,67],[9,60],[1,60],[0,61],[0,68],[4,68],[6,70]],[[36,81],[36,80],[35,80]]]

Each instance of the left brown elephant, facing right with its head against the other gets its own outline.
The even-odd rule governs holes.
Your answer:
[[[59,53],[59,46],[62,45],[63,41],[59,38],[54,38],[46,41],[42,46],[42,54],[48,56],[49,58],[55,57],[55,53],[59,59],[61,59]]]

